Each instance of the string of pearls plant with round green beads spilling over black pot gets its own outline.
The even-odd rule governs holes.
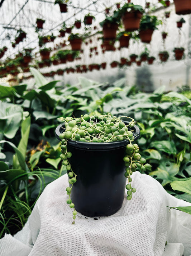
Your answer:
[[[122,121],[130,120],[128,125]],[[138,144],[132,144],[134,140],[132,127],[135,125],[135,121],[131,117],[121,116],[111,116],[110,113],[105,115],[94,115],[89,116],[88,114],[82,115],[80,118],[66,117],[59,118],[64,122],[65,131],[59,135],[61,139],[61,159],[62,164],[66,166],[68,171],[68,180],[70,187],[66,188],[68,194],[67,203],[73,208],[73,222],[75,224],[77,211],[75,210],[75,205],[71,200],[72,187],[77,181],[77,175],[72,170],[70,164],[70,157],[72,156],[71,152],[67,151],[67,142],[68,140],[77,140],[79,142],[96,142],[96,143],[108,143],[116,142],[122,140],[128,140],[129,144],[126,145],[126,154],[123,158],[125,163],[125,177],[127,178],[127,200],[132,199],[132,193],[136,192],[135,188],[132,188],[131,182],[132,178],[130,177],[133,172],[137,169],[143,172],[146,169],[151,170],[151,165],[145,163],[145,158],[142,158],[138,153],[139,147]]]

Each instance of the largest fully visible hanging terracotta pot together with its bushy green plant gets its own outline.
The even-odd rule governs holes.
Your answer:
[[[138,30],[140,19],[144,13],[141,5],[134,5],[133,3],[125,3],[118,13],[122,18],[126,31]]]

